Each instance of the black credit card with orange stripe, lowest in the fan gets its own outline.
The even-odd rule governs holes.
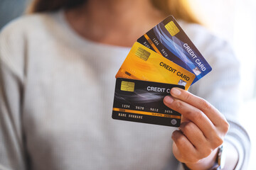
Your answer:
[[[164,105],[176,84],[117,78],[114,91],[112,118],[139,123],[178,127],[181,114]]]

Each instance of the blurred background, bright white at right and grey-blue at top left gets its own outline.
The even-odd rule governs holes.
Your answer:
[[[31,0],[0,0],[0,30],[6,23],[21,16],[30,2]],[[191,0],[191,5],[213,34],[230,42],[240,59],[240,121],[252,143],[248,169],[256,169],[256,1]]]

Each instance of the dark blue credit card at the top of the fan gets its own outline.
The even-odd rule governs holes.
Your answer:
[[[173,16],[161,21],[137,42],[195,74],[192,84],[212,70]]]

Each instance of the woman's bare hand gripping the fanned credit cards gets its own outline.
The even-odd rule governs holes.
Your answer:
[[[228,132],[225,117],[203,98],[183,89],[171,89],[164,104],[182,115],[179,130],[172,134],[176,159],[190,169],[209,169]]]

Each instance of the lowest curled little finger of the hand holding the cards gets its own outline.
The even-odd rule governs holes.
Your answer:
[[[196,159],[196,148],[189,142],[189,140],[183,135],[180,130],[175,130],[171,135],[174,140],[174,155],[180,162],[197,162]]]

